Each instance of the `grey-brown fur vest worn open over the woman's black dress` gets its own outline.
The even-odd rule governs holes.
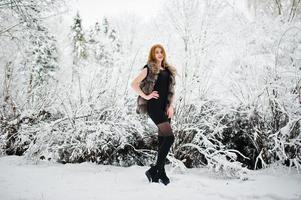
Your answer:
[[[153,67],[154,63],[149,62],[147,63],[148,67],[148,74],[147,76],[140,82],[139,87],[141,90],[146,94],[150,94],[155,86],[155,83],[158,78],[158,74],[155,74],[152,72],[151,68]],[[167,70],[168,67],[167,67]],[[170,71],[169,71],[170,72]],[[170,106],[171,99],[175,93],[175,77],[170,72],[169,76],[169,86],[168,86],[168,94],[167,94],[167,105],[165,107],[165,111],[167,111],[167,108]],[[146,99],[142,98],[140,95],[137,97],[137,107],[136,107],[136,113],[137,114],[147,114],[147,101]]]

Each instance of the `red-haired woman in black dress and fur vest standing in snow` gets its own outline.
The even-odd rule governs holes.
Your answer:
[[[147,64],[131,83],[139,94],[137,113],[147,113],[158,127],[157,161],[145,174],[150,182],[161,180],[165,185],[170,183],[164,168],[165,159],[175,139],[170,121],[174,114],[176,74],[176,69],[166,61],[163,46],[156,44],[150,49]]]

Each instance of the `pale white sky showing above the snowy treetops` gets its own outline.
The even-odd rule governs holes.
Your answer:
[[[79,10],[84,26],[93,25],[96,21],[101,21],[103,16],[117,17],[127,14],[136,15],[141,18],[140,22],[145,22],[162,9],[163,4],[168,0],[70,0],[68,1],[71,15],[74,16]],[[236,12],[243,12],[248,18],[251,16],[246,9],[246,0],[227,0]]]

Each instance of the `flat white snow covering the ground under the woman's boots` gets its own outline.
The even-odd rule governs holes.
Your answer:
[[[248,180],[225,178],[204,168],[180,173],[166,165],[171,183],[149,183],[148,166],[33,162],[0,158],[0,199],[301,199],[301,175],[284,166],[250,171]]]

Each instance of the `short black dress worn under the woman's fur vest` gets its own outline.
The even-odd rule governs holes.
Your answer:
[[[145,67],[147,68],[147,70],[149,70],[147,65],[145,65],[144,68]],[[149,73],[149,71],[147,73]],[[156,125],[166,121],[170,123],[171,120],[171,118],[168,118],[165,110],[167,105],[169,76],[170,71],[168,69],[160,70],[153,89],[154,91],[158,92],[159,97],[157,99],[151,98],[147,101],[148,115]]]

